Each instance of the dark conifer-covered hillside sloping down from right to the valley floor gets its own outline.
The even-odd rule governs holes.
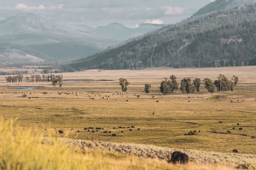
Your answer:
[[[70,66],[80,69],[256,65],[256,5],[166,26]]]

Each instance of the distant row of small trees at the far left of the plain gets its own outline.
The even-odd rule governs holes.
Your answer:
[[[5,77],[6,82],[22,82],[23,75],[19,74],[17,76],[8,76]],[[62,87],[63,84],[63,75],[54,75],[54,74],[43,74],[43,75],[30,75],[26,76],[26,82],[52,82],[52,85],[56,87],[56,85],[59,85],[59,87]]]

